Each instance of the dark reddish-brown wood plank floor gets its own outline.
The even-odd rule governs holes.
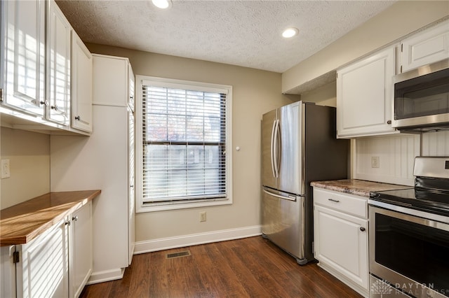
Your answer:
[[[167,253],[191,255],[166,259]],[[262,236],[135,255],[123,279],[80,297],[361,297],[316,264],[300,266]]]

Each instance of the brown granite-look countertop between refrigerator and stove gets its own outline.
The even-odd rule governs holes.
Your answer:
[[[401,190],[404,188],[413,187],[408,185],[380,183],[356,179],[313,181],[310,185],[324,188],[326,190],[334,190],[335,192],[354,194],[361,197],[370,197],[370,192],[382,190]]]

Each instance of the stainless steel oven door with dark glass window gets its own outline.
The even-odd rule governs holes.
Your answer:
[[[369,213],[370,274],[413,297],[449,297],[449,225],[371,205]],[[392,291],[370,285],[370,297]]]

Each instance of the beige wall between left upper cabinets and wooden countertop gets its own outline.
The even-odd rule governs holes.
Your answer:
[[[1,179],[0,208],[50,191],[50,138],[47,134],[0,128],[1,159],[10,159],[11,177]]]

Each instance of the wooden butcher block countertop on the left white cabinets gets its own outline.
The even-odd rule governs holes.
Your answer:
[[[77,208],[98,197],[100,192],[49,192],[1,210],[0,246],[28,243]]]

